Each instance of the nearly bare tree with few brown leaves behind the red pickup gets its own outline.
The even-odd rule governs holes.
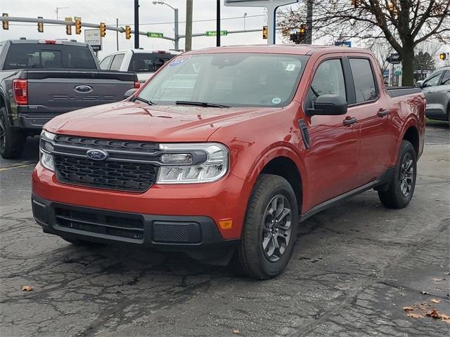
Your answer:
[[[282,32],[304,23],[304,10],[280,13]],[[450,0],[315,0],[314,37],[385,39],[399,53],[403,83],[413,85],[414,48],[423,41],[450,41]]]

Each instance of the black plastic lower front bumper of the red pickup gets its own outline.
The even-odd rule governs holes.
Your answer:
[[[207,216],[157,216],[61,204],[32,195],[34,220],[44,232],[104,244],[181,251],[198,260],[231,258],[238,239],[221,237]]]

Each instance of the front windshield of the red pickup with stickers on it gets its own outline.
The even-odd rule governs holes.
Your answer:
[[[305,55],[214,53],[181,55],[156,74],[139,97],[157,105],[176,101],[229,107],[283,107],[293,99]]]

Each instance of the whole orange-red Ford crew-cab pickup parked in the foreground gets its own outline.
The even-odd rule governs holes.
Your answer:
[[[74,244],[231,259],[281,273],[299,222],[375,189],[409,204],[425,98],[387,90],[370,51],[229,46],[184,53],[120,103],[58,116],[41,133],[32,209]]]

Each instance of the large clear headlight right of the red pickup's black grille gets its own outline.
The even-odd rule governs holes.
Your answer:
[[[219,143],[160,144],[160,150],[169,153],[160,157],[158,184],[210,183],[228,171],[229,152]]]

